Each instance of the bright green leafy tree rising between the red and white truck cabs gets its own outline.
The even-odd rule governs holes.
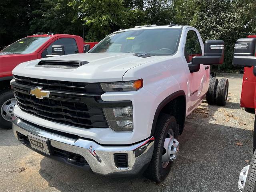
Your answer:
[[[86,40],[98,41],[119,28],[129,26],[133,12],[128,12],[122,0],[73,0],[69,3],[78,8],[78,17],[88,29]]]

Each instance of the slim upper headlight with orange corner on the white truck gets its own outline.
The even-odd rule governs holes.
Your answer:
[[[106,82],[100,84],[104,92],[136,91],[143,87],[143,80]]]

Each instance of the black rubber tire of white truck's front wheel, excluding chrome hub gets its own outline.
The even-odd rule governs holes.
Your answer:
[[[174,116],[169,114],[160,114],[156,124],[154,152],[151,162],[144,172],[144,176],[155,182],[162,182],[169,174],[173,161],[170,161],[165,168],[162,166],[162,154],[164,150],[164,140],[168,131],[172,129],[174,138],[178,137],[178,126]]]

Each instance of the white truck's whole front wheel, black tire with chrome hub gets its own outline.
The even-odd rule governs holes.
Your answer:
[[[152,160],[144,176],[155,182],[162,182],[169,174],[173,160],[179,152],[178,126],[174,116],[160,114],[154,137]]]

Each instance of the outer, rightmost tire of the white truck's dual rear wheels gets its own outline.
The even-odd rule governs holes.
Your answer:
[[[228,79],[220,79],[217,86],[216,104],[219,106],[226,105],[228,98]]]

